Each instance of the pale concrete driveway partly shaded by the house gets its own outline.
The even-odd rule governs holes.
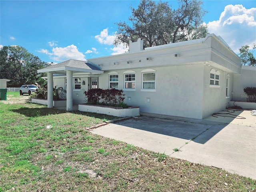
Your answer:
[[[140,116],[92,133],[256,179],[256,126]]]

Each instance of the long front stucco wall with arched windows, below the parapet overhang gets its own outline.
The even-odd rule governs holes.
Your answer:
[[[156,70],[156,92],[141,91],[144,69],[134,70],[136,91],[124,91],[126,104],[139,106],[140,112],[202,118],[202,64],[151,68]],[[108,88],[109,72],[100,76],[100,88]],[[119,89],[124,89],[125,70],[115,72],[119,74]]]

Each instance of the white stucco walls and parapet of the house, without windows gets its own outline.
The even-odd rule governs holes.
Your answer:
[[[90,76],[99,77],[98,87],[109,88],[109,72],[119,74],[119,89],[124,89],[124,72],[136,72],[135,91],[124,90],[125,102],[139,106],[141,112],[202,119],[225,109],[233,98],[234,74],[241,72],[240,58],[226,43],[209,34],[204,39],[178,42],[145,48],[134,42],[134,52],[92,58],[88,62],[98,65],[104,74],[73,74],[86,84],[73,90],[74,104],[84,103],[84,90],[88,90]],[[220,72],[220,86],[210,87],[210,70]],[[156,70],[155,92],[142,89],[142,70]],[[226,97],[226,76],[229,74],[229,98]],[[74,79],[73,79],[74,81]],[[62,83],[64,80],[62,81]],[[55,84],[54,84],[55,85]],[[130,100],[128,99],[130,98]]]

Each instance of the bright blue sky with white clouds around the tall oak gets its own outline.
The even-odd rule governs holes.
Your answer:
[[[204,0],[204,23],[238,53],[256,43],[255,0]],[[176,0],[169,0],[177,8]],[[85,60],[125,51],[113,46],[116,22],[139,1],[0,1],[0,47],[19,45],[45,62]]]

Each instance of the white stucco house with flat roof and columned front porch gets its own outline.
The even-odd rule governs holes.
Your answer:
[[[220,36],[145,49],[138,39],[129,48],[125,54],[71,59],[38,70],[47,72],[48,108],[56,85],[66,88],[67,110],[84,103],[84,90],[118,88],[125,103],[140,112],[202,119],[224,110],[238,88],[241,60]]]

